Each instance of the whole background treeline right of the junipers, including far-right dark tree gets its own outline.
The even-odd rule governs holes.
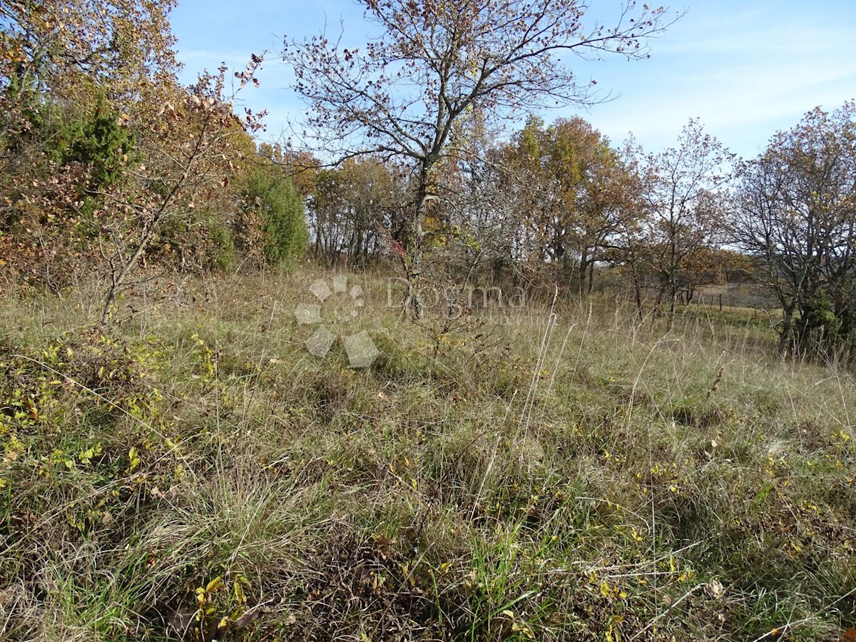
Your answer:
[[[782,351],[851,355],[854,113],[813,110],[751,161],[697,121],[658,154],[612,146],[580,118],[531,117],[498,142],[472,128],[431,175],[423,278],[586,295],[598,273],[669,324],[699,286],[754,281],[782,306]],[[338,267],[406,259],[413,173],[378,156],[313,163],[296,164],[314,256]]]

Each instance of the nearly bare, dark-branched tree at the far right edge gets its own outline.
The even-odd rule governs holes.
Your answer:
[[[782,306],[780,349],[856,354],[856,103],[819,107],[741,171],[735,241]]]

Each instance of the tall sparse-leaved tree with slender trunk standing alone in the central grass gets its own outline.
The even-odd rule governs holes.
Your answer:
[[[321,33],[287,39],[282,57],[294,68],[307,104],[306,128],[340,157],[375,153],[413,168],[407,230],[407,279],[413,314],[421,314],[424,217],[438,199],[435,168],[455,123],[478,111],[488,121],[519,110],[596,101],[562,56],[648,55],[663,32],[663,9],[628,3],[606,27],[583,22],[576,0],[360,0],[379,28],[364,49]]]

